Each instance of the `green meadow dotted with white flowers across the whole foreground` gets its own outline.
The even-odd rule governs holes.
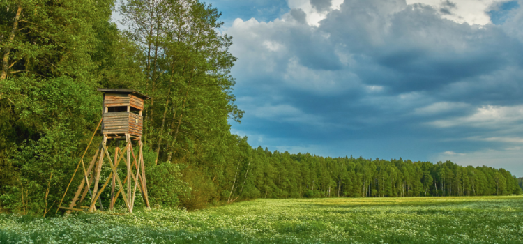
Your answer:
[[[0,243],[523,243],[523,197],[258,199],[194,212],[1,214]]]

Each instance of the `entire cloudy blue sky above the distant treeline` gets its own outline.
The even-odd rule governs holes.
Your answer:
[[[523,10],[496,0],[209,0],[252,146],[523,176]]]

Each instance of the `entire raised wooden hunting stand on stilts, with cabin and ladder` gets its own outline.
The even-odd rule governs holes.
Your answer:
[[[98,91],[105,92],[103,97],[103,116],[102,121],[100,121],[100,123],[102,123],[103,141],[100,142],[93,159],[86,168],[83,158],[87,149],[89,149],[89,146],[91,145],[94,134],[93,137],[91,137],[91,142],[89,142],[84,155],[82,155],[82,159],[78,163],[75,173],[69,181],[66,192],[63,194],[59,209],[65,209],[70,212],[84,211],[84,208],[88,208],[89,211],[95,211],[95,204],[96,201],[98,201],[100,203],[100,208],[103,211],[100,194],[105,190],[109,181],[111,181],[109,210],[114,208],[114,203],[121,194],[128,211],[132,213],[132,208],[135,205],[137,189],[142,192],[144,202],[149,208],[144,157],[142,154],[142,111],[144,109],[144,99],[149,99],[149,97],[132,89],[98,89]],[[100,124],[98,124],[98,127],[99,126]],[[98,128],[96,128],[96,130],[98,130]],[[107,139],[126,140],[126,147],[123,151],[120,150],[118,146],[114,148],[114,160],[111,158],[109,150],[107,149]],[[132,150],[132,141],[138,142],[138,157],[135,156],[135,152]],[[112,172],[102,185],[102,188],[98,188],[100,183],[100,172],[105,158],[107,158]],[[123,181],[121,180],[119,171],[117,170],[122,159],[127,167],[125,174],[126,177]],[[82,182],[78,186],[73,201],[71,201],[69,206],[61,206],[63,198],[66,196],[69,186],[73,182],[80,165],[82,165],[84,173],[82,176]],[[120,172],[120,174],[122,173],[123,172]],[[92,185],[93,181],[94,185]],[[115,192],[116,183],[119,186],[118,192]],[[92,191],[91,185],[93,186]],[[91,196],[91,203],[89,203],[89,206],[82,206],[88,193]],[[56,210],[56,213],[58,213],[58,210]]]

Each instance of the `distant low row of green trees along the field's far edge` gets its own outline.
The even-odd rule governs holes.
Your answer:
[[[517,179],[505,169],[462,167],[453,162],[324,158],[317,155],[270,153],[261,148],[246,153],[220,192],[256,189],[238,199],[288,197],[420,197],[521,195]],[[250,168],[250,171],[241,170]],[[232,171],[234,172],[234,171]],[[247,174],[248,173],[248,174]],[[223,193],[222,193],[223,195]]]

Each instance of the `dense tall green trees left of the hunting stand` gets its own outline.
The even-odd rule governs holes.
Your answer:
[[[100,32],[112,5],[0,3],[0,202],[10,211],[56,208],[71,165],[96,128],[100,79],[93,56],[107,47]]]

